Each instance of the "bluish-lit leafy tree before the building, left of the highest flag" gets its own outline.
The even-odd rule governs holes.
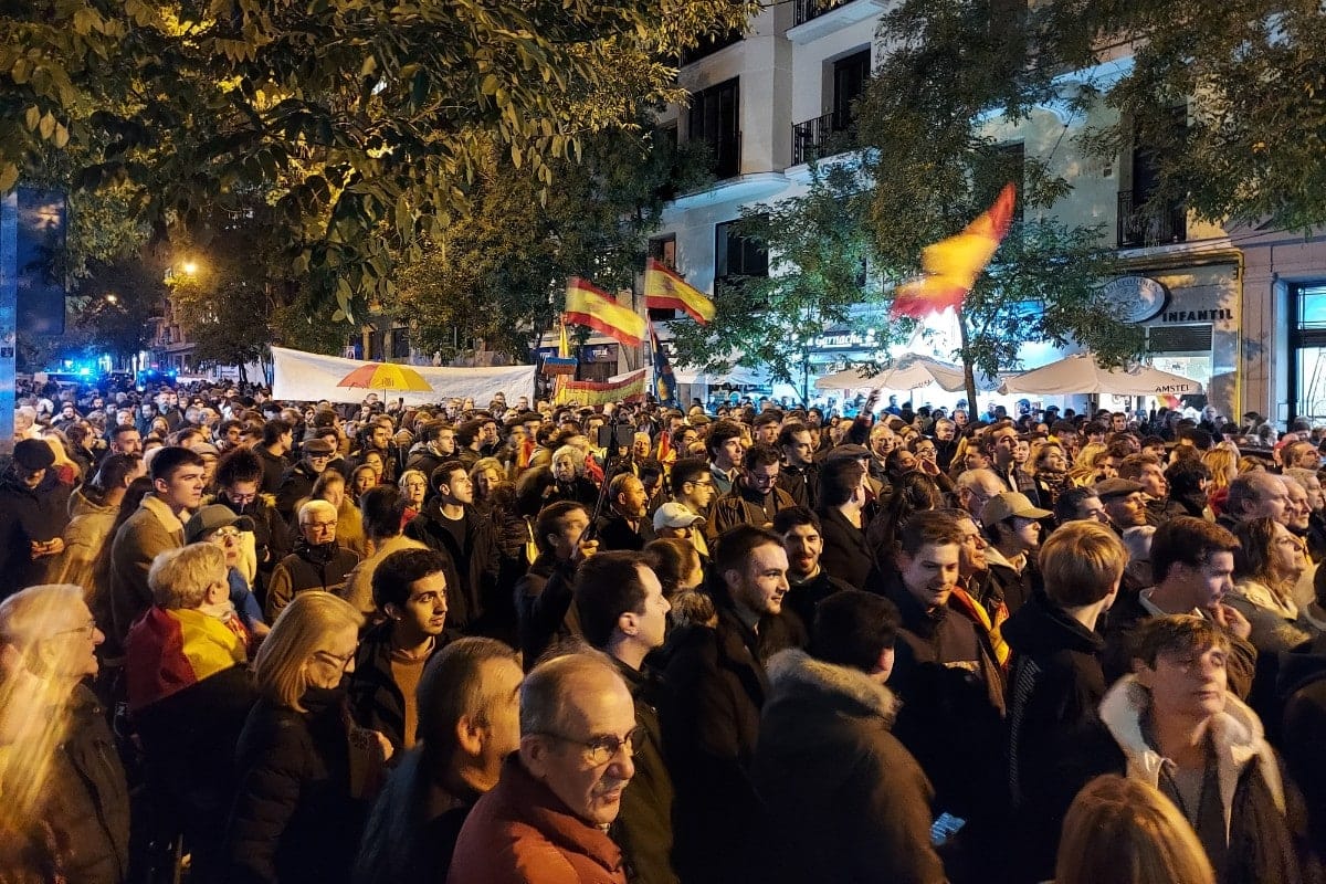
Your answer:
[[[709,371],[740,363],[769,366],[809,399],[810,350],[830,326],[846,326],[886,346],[911,322],[879,322],[882,290],[867,276],[871,241],[865,227],[871,188],[861,164],[812,163],[801,196],[745,207],[737,231],[769,252],[768,277],[715,282],[713,321],[672,327],[676,357]]]

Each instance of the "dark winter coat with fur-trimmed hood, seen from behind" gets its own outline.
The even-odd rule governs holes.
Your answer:
[[[761,880],[945,880],[930,839],[930,781],[890,733],[896,706],[863,672],[797,649],[769,660],[751,773],[766,811]]]

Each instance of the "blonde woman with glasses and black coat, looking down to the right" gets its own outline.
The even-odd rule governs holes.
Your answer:
[[[228,881],[343,884],[390,745],[357,728],[345,676],[362,618],[329,592],[282,611],[253,660],[259,701],[236,749]]]

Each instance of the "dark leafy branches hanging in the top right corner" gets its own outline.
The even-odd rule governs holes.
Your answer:
[[[1326,223],[1322,4],[1049,0],[1032,28],[1045,69],[1085,68],[1134,37],[1131,70],[1105,94],[1118,123],[1086,146],[1151,148],[1155,204],[1184,200],[1215,223]]]

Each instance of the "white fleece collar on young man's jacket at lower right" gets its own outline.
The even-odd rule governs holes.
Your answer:
[[[1128,759],[1128,777],[1148,786],[1158,786],[1164,759],[1142,734],[1142,718],[1150,705],[1151,693],[1138,683],[1136,676],[1124,676],[1101,701],[1101,720]],[[1220,766],[1220,803],[1225,811],[1225,830],[1229,830],[1238,777],[1250,763],[1260,765],[1272,801],[1284,815],[1285,787],[1280,777],[1280,765],[1265,740],[1257,714],[1233,693],[1227,692],[1225,710],[1211,721],[1211,734]]]

